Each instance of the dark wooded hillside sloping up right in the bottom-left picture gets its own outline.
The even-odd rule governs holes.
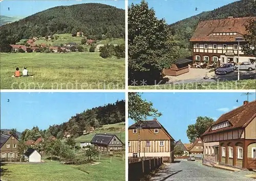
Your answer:
[[[83,134],[83,130],[88,130],[91,126],[95,129],[102,125],[120,122],[125,122],[124,100],[84,110],[80,114],[72,116],[68,122],[50,126],[46,130],[46,134],[50,132],[54,137],[62,138],[63,133],[68,131],[74,137],[79,137]]]

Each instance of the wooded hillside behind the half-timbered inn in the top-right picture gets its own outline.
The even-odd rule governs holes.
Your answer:
[[[192,16],[172,25],[169,25],[172,34],[177,35],[180,39],[180,46],[183,48],[189,48],[189,39],[193,35],[199,21],[211,20],[211,19],[223,19],[228,16],[233,17],[245,17],[255,16],[255,1],[254,0],[242,0],[234,2],[218,9],[202,12],[196,16]]]

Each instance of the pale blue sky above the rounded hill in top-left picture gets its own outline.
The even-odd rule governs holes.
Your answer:
[[[125,9],[125,2],[124,0],[119,1],[112,1],[112,0],[106,0],[106,1],[59,1],[59,0],[53,0],[53,1],[16,1],[16,0],[4,0],[0,3],[0,13],[1,15],[5,16],[30,16],[32,14],[35,14],[40,11],[44,11],[49,8],[53,8],[56,6],[70,6],[75,4],[83,4],[83,3],[101,3],[101,4],[107,4],[111,6],[115,6],[120,9]],[[10,8],[10,10],[8,10]]]

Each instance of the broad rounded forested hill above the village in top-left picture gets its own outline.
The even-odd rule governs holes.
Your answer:
[[[1,38],[18,42],[33,36],[83,32],[89,38],[125,35],[125,11],[113,6],[87,3],[58,6],[0,27]]]

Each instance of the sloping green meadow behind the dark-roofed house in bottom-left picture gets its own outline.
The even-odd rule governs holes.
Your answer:
[[[122,131],[122,132],[121,132]],[[96,133],[116,134],[116,136],[125,143],[125,125],[124,123],[103,125],[101,128],[96,129],[93,133],[81,135],[76,138],[76,145],[80,146],[80,142],[90,142]]]

